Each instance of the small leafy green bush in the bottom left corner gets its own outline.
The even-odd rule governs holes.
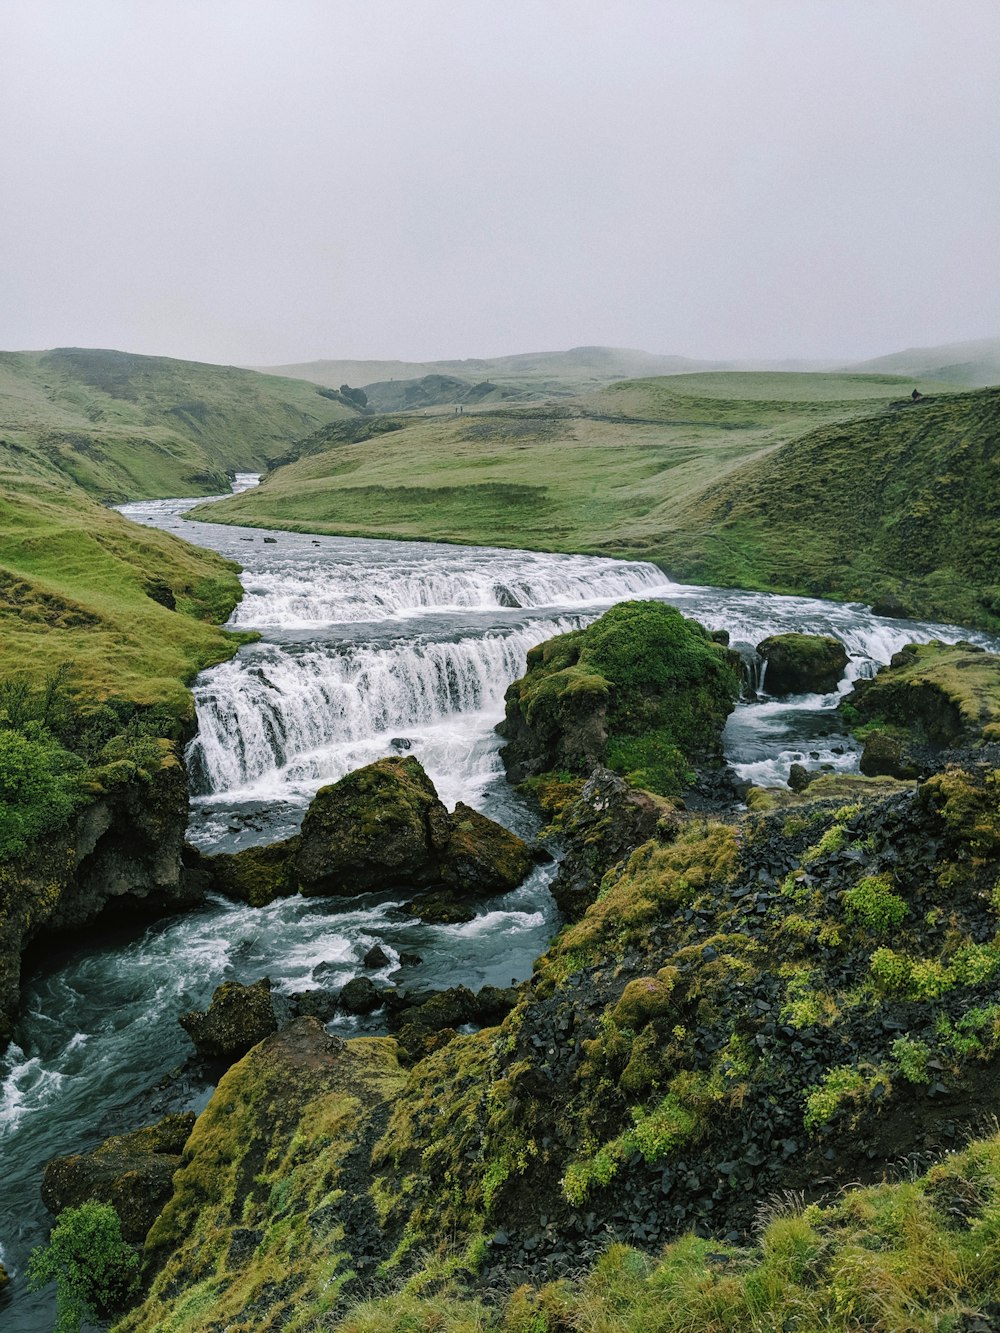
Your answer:
[[[87,1320],[105,1320],[123,1310],[139,1289],[139,1252],[121,1237],[111,1204],[67,1208],[52,1228],[48,1245],[32,1250],[28,1285],[56,1284],[53,1333],[79,1333]]]

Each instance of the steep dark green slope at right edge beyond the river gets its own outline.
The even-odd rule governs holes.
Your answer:
[[[805,435],[709,488],[665,535],[684,577],[1000,625],[1000,389]]]

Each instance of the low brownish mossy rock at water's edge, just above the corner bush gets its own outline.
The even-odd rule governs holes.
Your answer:
[[[195,1128],[191,1112],[108,1138],[92,1153],[53,1157],[41,1180],[41,1201],[53,1213],[89,1201],[111,1204],[121,1234],[139,1244],[173,1193],[173,1173]]]

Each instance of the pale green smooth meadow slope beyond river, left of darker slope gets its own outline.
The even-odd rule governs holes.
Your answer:
[[[397,419],[399,431],[277,469],[211,519],[657,559],[720,477],[909,391],[891,377],[688,375],[575,404]]]

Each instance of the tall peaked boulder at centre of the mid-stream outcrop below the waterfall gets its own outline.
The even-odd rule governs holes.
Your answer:
[[[433,884],[449,833],[448,812],[420,762],[381,758],[316,793],[296,878],[307,894]]]

